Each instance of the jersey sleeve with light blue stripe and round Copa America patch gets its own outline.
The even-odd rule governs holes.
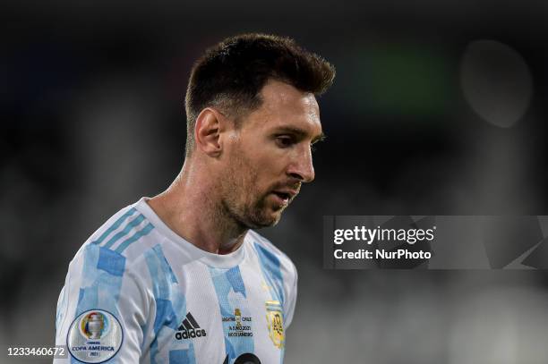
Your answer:
[[[133,271],[114,250],[93,243],[81,248],[57,301],[56,345],[68,352],[54,364],[140,362],[150,307]]]

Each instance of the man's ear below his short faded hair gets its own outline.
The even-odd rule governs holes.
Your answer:
[[[210,157],[219,157],[223,150],[221,133],[226,130],[226,119],[217,110],[206,107],[196,118],[194,140],[196,148]]]

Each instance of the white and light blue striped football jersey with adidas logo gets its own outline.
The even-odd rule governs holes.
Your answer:
[[[146,202],[125,207],[69,265],[54,363],[278,364],[296,300],[294,264],[248,231],[234,252],[201,250]]]

